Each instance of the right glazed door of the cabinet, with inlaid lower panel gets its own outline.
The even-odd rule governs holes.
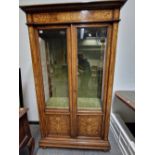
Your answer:
[[[73,103],[75,103],[76,136],[99,138],[104,134],[106,106],[106,65],[108,25],[72,26]]]

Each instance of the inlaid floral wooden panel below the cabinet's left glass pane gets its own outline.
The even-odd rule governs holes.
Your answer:
[[[47,116],[48,135],[70,135],[69,115]]]

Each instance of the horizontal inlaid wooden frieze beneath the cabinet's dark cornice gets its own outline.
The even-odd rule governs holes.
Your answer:
[[[33,22],[38,24],[109,21],[113,18],[113,12],[112,10],[83,10],[72,12],[39,13],[33,14],[32,17]]]

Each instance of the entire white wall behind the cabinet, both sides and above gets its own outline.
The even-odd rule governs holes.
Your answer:
[[[66,0],[65,2],[72,2]],[[76,0],[81,1],[81,0]],[[20,5],[60,3],[63,0],[20,0]],[[74,0],[75,2],[75,0]],[[30,121],[38,120],[36,94],[34,88],[34,77],[32,70],[28,30],[25,25],[25,14],[19,12],[19,65],[21,67],[24,104],[29,107],[28,118]],[[114,89],[134,89],[135,87],[135,40],[134,40],[134,0],[128,0],[121,10],[121,22],[119,25],[118,45],[116,55],[116,69],[114,78]]]

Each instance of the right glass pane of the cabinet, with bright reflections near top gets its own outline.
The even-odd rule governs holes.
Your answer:
[[[107,28],[78,28],[78,110],[101,110]]]

